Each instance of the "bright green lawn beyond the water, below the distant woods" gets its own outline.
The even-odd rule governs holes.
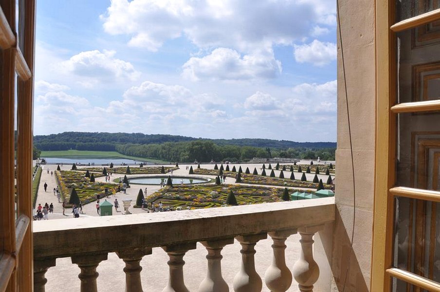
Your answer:
[[[41,151],[42,158],[56,157],[56,158],[71,158],[71,159],[132,159],[149,162],[166,162],[158,159],[133,157],[118,153],[116,151],[81,151],[81,150],[64,150],[64,151]]]

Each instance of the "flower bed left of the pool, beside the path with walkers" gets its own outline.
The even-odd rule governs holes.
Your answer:
[[[102,174],[96,174],[95,178],[102,176]],[[112,193],[113,189],[116,190],[116,192],[118,191],[117,184],[99,182],[91,183],[90,178],[84,177],[84,172],[80,171],[56,170],[55,178],[62,198],[67,202],[69,202],[70,191],[72,188],[75,189],[79,200],[84,204],[96,201],[96,194],[99,194],[101,198],[104,197],[106,188],[108,189],[109,194]]]

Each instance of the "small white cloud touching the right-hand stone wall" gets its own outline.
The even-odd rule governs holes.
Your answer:
[[[307,62],[315,66],[324,66],[336,60],[336,44],[315,39],[310,44],[295,45],[293,54],[298,63]]]

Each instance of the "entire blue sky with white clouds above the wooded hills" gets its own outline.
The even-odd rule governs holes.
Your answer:
[[[336,141],[334,0],[40,0],[34,133]]]

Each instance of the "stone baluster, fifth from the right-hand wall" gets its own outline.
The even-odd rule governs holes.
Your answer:
[[[196,249],[196,242],[169,245],[162,247],[169,256],[169,278],[168,284],[162,292],[189,292],[183,281],[183,256],[187,251]]]

